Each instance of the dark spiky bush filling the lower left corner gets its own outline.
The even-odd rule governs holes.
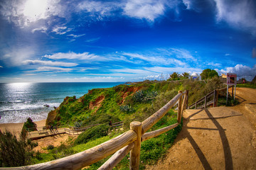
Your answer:
[[[25,166],[31,163],[33,148],[37,143],[21,137],[20,140],[11,132],[0,131],[0,166]]]

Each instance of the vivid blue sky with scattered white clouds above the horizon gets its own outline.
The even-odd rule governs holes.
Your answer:
[[[0,83],[256,75],[255,0],[0,0]]]

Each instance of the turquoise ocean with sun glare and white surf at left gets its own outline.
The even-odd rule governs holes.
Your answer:
[[[43,120],[66,96],[80,98],[90,89],[119,84],[124,82],[0,84],[0,123],[23,123],[28,117]]]

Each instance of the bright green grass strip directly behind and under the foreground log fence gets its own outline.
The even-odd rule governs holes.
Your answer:
[[[168,125],[173,125],[177,122],[176,120],[176,113],[174,111],[169,111],[166,113],[164,118],[161,118],[156,125],[154,125],[151,130],[157,130],[160,128],[164,128]],[[166,132],[162,135],[159,135],[159,137],[154,137],[150,140],[146,140],[142,142],[141,146],[141,156],[140,156],[140,167],[139,169],[144,169],[146,164],[155,164],[157,160],[166,154],[166,151],[171,147],[172,143],[174,142],[174,139],[178,135],[178,132],[181,130],[181,125],[178,125],[177,128],[174,128],[173,130],[169,130],[169,132]],[[66,157],[70,154],[75,154],[78,152],[82,152],[86,149],[90,149],[92,147],[95,147],[97,145],[102,144],[103,142],[106,142],[107,140],[111,140],[114,137],[117,137],[118,135],[121,135],[121,131],[112,131],[110,135],[107,135],[105,137],[97,138],[96,140],[92,140],[90,142],[87,142],[85,144],[80,145],[60,145],[60,147],[50,148],[48,150],[48,153],[46,154],[40,154],[38,155],[38,158],[40,159],[33,159],[34,164],[42,163],[42,162],[48,162],[53,159],[59,159],[61,157]],[[109,159],[111,156],[100,160],[100,162],[97,162],[95,164],[92,164],[87,167],[87,169],[98,169],[102,164],[104,164],[107,159]],[[129,169],[129,154],[122,159],[119,164],[114,169]]]

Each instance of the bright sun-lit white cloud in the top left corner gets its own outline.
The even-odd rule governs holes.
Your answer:
[[[59,3],[60,0],[9,0],[0,1],[1,15],[7,21],[15,23],[21,28],[30,26],[40,20],[46,20],[50,16],[65,17],[68,11],[66,6]]]

